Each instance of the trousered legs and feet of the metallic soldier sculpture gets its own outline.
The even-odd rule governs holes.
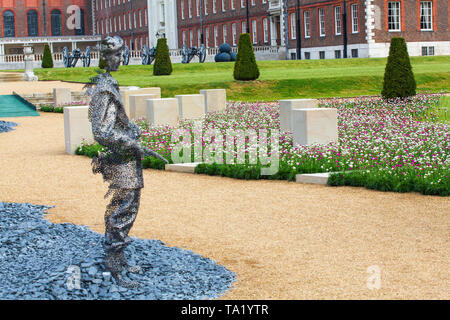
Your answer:
[[[138,213],[140,194],[140,189],[114,190],[111,203],[107,206],[105,213],[105,265],[119,285],[124,287],[138,286],[135,282],[124,280],[122,270],[124,267],[132,272],[140,270],[138,267],[128,266],[124,253],[125,247],[131,241],[128,232]]]

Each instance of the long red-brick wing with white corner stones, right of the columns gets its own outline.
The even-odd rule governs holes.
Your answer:
[[[239,34],[246,32],[246,2],[179,0],[179,46],[200,44],[201,19],[207,47],[237,45]],[[253,43],[287,47],[288,56],[295,59],[297,0],[248,3]],[[344,43],[348,57],[384,57],[390,38],[397,36],[406,39],[410,55],[450,54],[448,0],[301,0],[299,12],[302,58],[342,58]]]

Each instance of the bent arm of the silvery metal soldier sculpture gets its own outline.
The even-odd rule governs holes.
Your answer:
[[[129,136],[126,131],[115,127],[117,104],[112,95],[100,93],[95,99],[95,112],[92,113],[92,133],[95,140],[111,150],[143,154],[143,148],[137,138]]]

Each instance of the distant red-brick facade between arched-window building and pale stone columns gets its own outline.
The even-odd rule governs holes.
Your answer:
[[[149,44],[148,2],[155,0],[91,0],[94,34],[118,35],[131,50]]]

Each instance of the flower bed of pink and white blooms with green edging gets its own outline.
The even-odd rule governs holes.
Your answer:
[[[449,195],[450,126],[437,121],[433,110],[438,101],[439,96],[434,95],[390,102],[379,98],[323,100],[322,107],[338,109],[338,144],[293,146],[292,134],[285,132],[280,137],[280,169],[273,176],[261,176],[260,165],[248,164],[202,164],[196,172],[241,179],[294,180],[298,173],[350,171],[332,175],[328,183]],[[174,128],[148,128],[143,121],[138,125],[142,129],[141,143],[170,160]],[[203,121],[204,131],[219,129],[223,133],[226,129],[279,126],[278,103],[234,103],[223,112],[208,113]],[[182,121],[179,127],[194,134],[197,130],[193,121]],[[201,142],[203,147],[207,145],[203,139]],[[144,161],[146,167],[163,168],[162,162],[153,158]]]

